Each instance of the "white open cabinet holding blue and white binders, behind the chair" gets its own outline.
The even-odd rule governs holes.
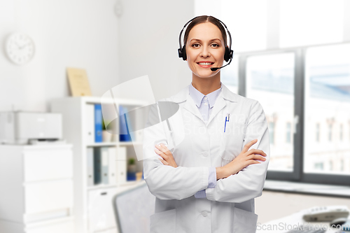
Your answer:
[[[94,104],[107,104],[111,109],[127,107],[128,111],[146,106],[143,101],[127,99],[102,100],[99,97],[66,97],[51,101],[51,111],[62,113],[63,137],[73,146],[73,214],[77,233],[118,232],[113,213],[112,198],[118,192],[144,181],[127,181],[127,160],[134,158],[137,171],[143,171],[142,160],[137,160],[137,153],[142,153],[142,135],[137,141],[119,141],[119,135],[113,135],[112,141],[94,142],[91,136],[94,129],[91,111]],[[116,121],[116,131],[119,121]],[[108,182],[93,182],[91,153],[96,148],[109,150]],[[94,149],[94,150],[92,150]],[[113,153],[114,151],[114,153]],[[103,153],[103,152],[102,152]],[[112,153],[112,154],[111,154]],[[113,155],[113,156],[112,156]],[[103,162],[104,163],[104,162]],[[102,178],[103,180],[103,178]]]

